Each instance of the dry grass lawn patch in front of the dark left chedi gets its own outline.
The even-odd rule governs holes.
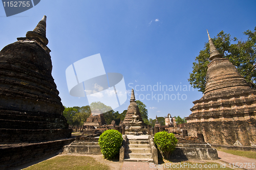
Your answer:
[[[25,168],[24,170],[32,170],[32,169],[51,169],[51,170],[57,170],[57,169],[69,169],[69,170],[109,170],[109,166],[106,166],[104,164],[101,164],[100,162],[96,161],[92,157],[87,156],[58,156],[46,161],[42,161],[40,163],[37,163],[35,165],[32,165],[30,167]]]

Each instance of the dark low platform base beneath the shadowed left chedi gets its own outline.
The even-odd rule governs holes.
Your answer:
[[[15,167],[54,154],[74,140],[62,139],[40,143],[0,145],[0,169]]]

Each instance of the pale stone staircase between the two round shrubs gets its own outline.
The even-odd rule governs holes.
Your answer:
[[[124,161],[153,162],[150,142],[146,138],[127,139]]]

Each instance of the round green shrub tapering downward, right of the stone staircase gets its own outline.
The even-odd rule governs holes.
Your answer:
[[[163,152],[166,159],[169,159],[170,154],[176,148],[178,140],[173,133],[168,134],[166,131],[162,131],[155,134],[154,142],[158,149]]]

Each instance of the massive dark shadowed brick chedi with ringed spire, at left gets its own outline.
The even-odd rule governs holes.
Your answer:
[[[0,52],[0,144],[68,138],[52,77],[46,16]]]

